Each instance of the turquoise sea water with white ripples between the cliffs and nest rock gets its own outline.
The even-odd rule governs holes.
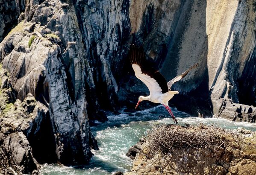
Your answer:
[[[227,129],[244,127],[256,131],[256,124],[248,122],[231,122],[217,118],[198,118],[172,109],[179,124],[188,123],[199,125],[200,123]],[[89,165],[87,166],[60,166],[57,164],[44,164],[41,169],[42,175],[111,175],[113,172],[127,172],[130,170],[132,160],[127,157],[129,147],[147,134],[154,125],[173,123],[168,112],[163,106],[156,106],[144,111],[126,113],[120,111],[119,115],[109,114],[109,121],[98,123],[91,127],[99,145],[99,151],[94,151]],[[167,118],[166,118],[167,117]]]

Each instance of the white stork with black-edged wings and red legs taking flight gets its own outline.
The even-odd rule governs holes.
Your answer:
[[[135,76],[138,79],[140,79],[150,91],[149,96],[138,97],[138,103],[135,109],[143,100],[148,100],[154,103],[160,103],[165,106],[165,109],[167,109],[167,111],[171,115],[172,119],[174,120],[174,123],[178,124],[176,118],[174,117],[174,114],[171,111],[171,108],[168,106],[168,101],[172,99],[175,94],[179,92],[171,91],[171,86],[174,83],[181,80],[182,78],[184,78],[188,74],[188,72],[191,69],[197,67],[198,64],[194,64],[194,66],[190,67],[181,75],[176,76],[174,79],[172,79],[169,82],[166,82],[165,77],[162,76],[162,74],[159,73],[158,70],[154,69],[153,67],[150,67],[147,64],[142,47],[138,48],[134,44],[132,44],[129,50],[129,59],[132,64],[132,68],[135,72]]]

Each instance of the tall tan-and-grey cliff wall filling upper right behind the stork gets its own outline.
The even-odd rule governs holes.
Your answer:
[[[130,2],[132,39],[143,44],[167,80],[199,63],[174,86],[180,93],[171,102],[179,110],[255,122],[255,4],[255,0]],[[137,95],[129,87],[125,89]]]

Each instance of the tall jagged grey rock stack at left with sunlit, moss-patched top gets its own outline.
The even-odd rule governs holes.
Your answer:
[[[27,6],[25,19],[0,44],[3,69],[9,72],[14,101],[23,101],[31,93],[49,109],[50,122],[45,121],[47,126],[45,122],[38,123],[38,127],[44,124],[40,132],[46,130],[44,127],[52,130],[46,134],[53,138],[53,146],[47,150],[53,155],[41,157],[40,144],[26,135],[33,153],[40,155],[38,162],[87,163],[92,156],[90,145],[97,149],[88,125],[85,98],[85,84],[92,83],[92,76],[80,47],[82,40],[74,6],[59,0],[33,3]],[[40,114],[39,118],[43,120],[44,116]]]

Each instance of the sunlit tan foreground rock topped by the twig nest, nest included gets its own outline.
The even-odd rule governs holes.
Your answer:
[[[162,137],[155,137],[156,132]],[[174,132],[176,136],[171,135],[172,137],[168,139],[166,134],[170,132]],[[203,142],[198,138],[188,140],[189,137],[198,137],[200,134],[204,139]],[[211,135],[210,140],[208,134]],[[133,161],[131,171],[126,172],[125,175],[254,175],[256,173],[255,133],[250,137],[244,137],[204,125],[186,128],[163,125],[146,138],[142,150]],[[153,143],[153,140],[159,143]],[[216,142],[224,144],[216,145]],[[207,144],[209,145],[206,146]],[[158,147],[154,147],[156,145]]]

